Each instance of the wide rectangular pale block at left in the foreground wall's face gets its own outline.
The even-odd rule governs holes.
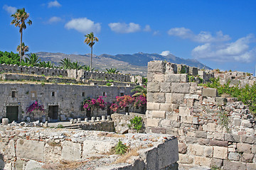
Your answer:
[[[44,145],[45,142],[18,139],[16,141],[16,155],[18,158],[43,161]]]

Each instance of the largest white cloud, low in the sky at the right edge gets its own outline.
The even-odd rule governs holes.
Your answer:
[[[239,38],[230,43],[206,43],[195,47],[191,54],[196,59],[208,59],[215,62],[251,62],[255,60],[256,47],[250,49],[255,41],[254,35]]]

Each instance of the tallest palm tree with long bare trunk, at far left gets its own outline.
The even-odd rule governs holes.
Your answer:
[[[29,13],[26,13],[25,8],[17,9],[16,13],[12,14],[11,17],[14,19],[11,21],[11,24],[14,24],[15,27],[19,27],[19,33],[21,33],[21,45],[19,50],[20,63],[21,63],[21,48],[22,48],[22,31],[26,29],[26,20],[29,17]],[[28,20],[28,25],[32,24],[31,20]]]

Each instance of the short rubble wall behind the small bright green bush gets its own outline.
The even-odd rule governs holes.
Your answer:
[[[117,133],[128,132],[129,130],[128,125],[130,124],[129,120],[131,120],[135,116],[142,117],[142,120],[143,120],[142,132],[145,132],[146,115],[139,114],[139,113],[129,113],[129,115],[114,113],[111,115],[111,118],[114,121],[115,132]]]

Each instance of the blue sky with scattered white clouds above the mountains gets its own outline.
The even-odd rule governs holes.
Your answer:
[[[23,32],[29,52],[84,55],[84,35],[94,31],[96,55],[171,53],[213,69],[255,72],[255,0],[1,0],[1,51],[15,52],[20,43],[10,24],[17,8],[33,21]]]

